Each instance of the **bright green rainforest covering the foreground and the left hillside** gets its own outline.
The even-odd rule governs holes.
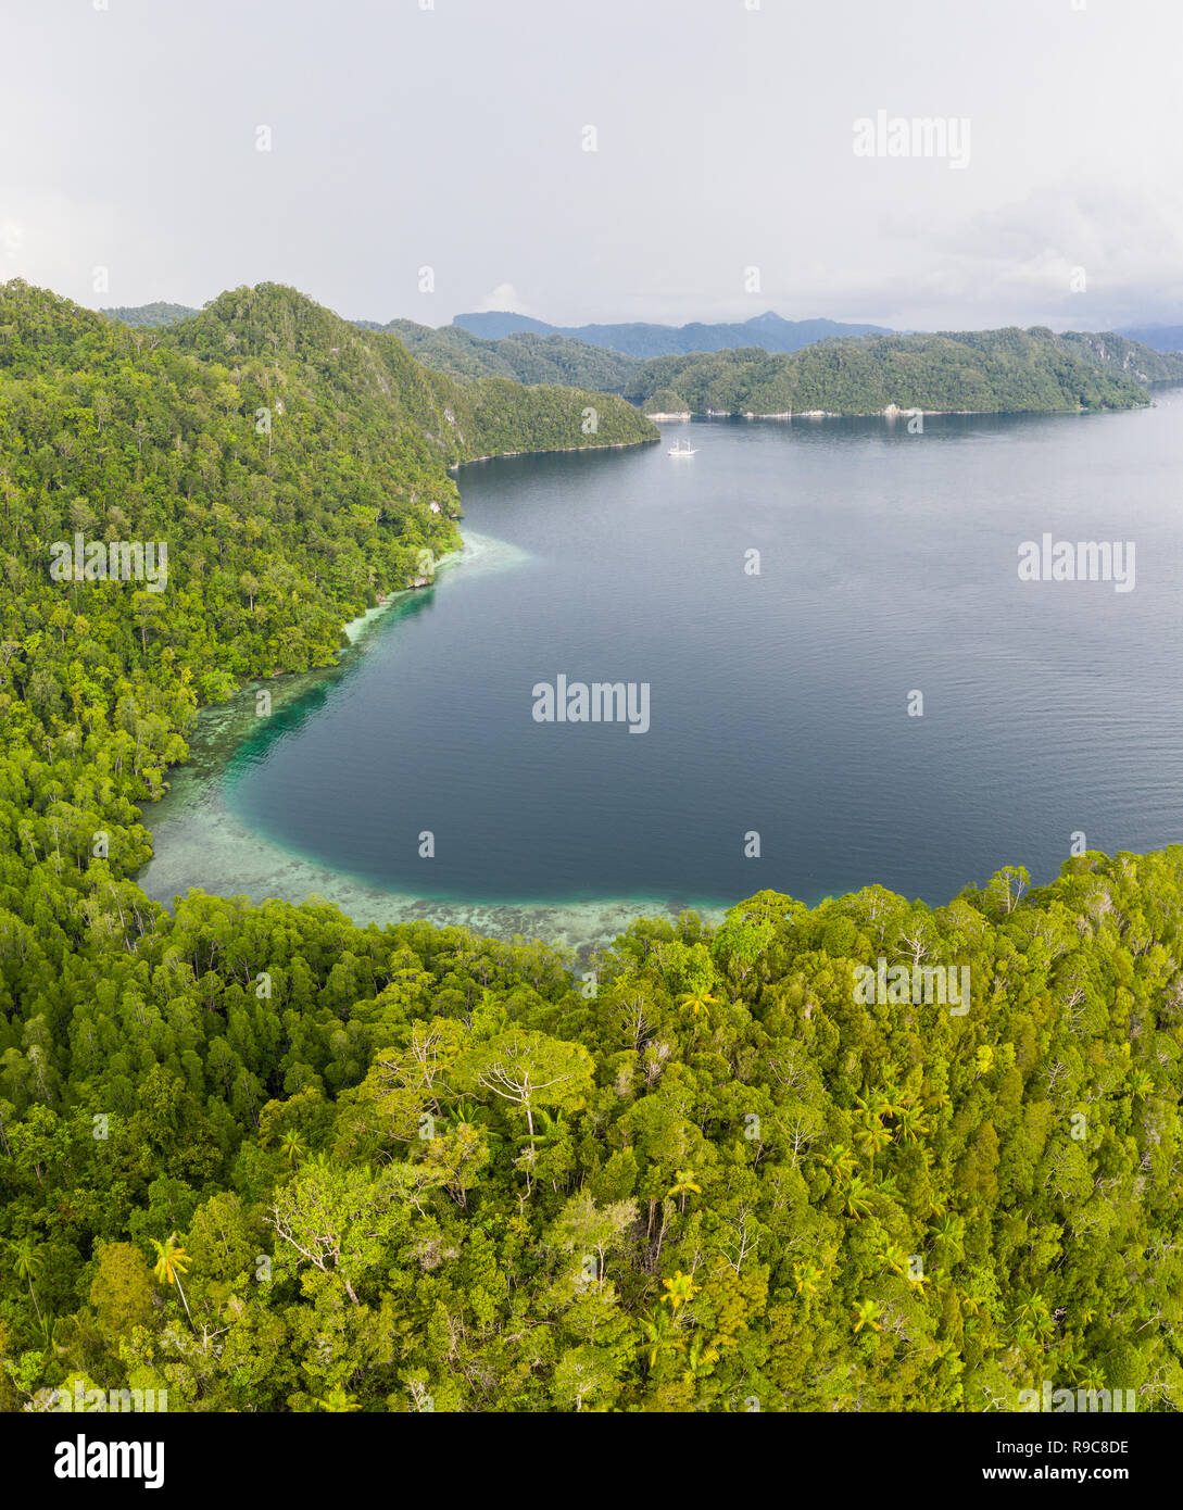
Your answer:
[[[651,435],[273,285],[147,334],[0,290],[0,1409],[1178,1409],[1183,849],[763,891],[594,978],[136,886],[193,710],[453,547],[447,464]],[[53,581],[76,533],[166,590]],[[970,1010],[861,1001],[881,959]]]

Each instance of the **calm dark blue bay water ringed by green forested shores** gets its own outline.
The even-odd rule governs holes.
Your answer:
[[[1156,399],[468,467],[464,524],[512,563],[388,613],[236,750],[227,800],[322,865],[486,901],[937,903],[1006,864],[1050,879],[1076,832],[1178,841],[1183,393]],[[1135,589],[1020,581],[1044,535],[1133,541]],[[536,722],[559,673],[648,684],[648,731]]]

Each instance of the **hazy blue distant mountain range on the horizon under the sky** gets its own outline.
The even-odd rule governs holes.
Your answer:
[[[757,314],[742,325],[547,325],[529,314],[491,310],[485,314],[458,314],[453,325],[471,331],[486,341],[506,335],[567,335],[588,346],[603,346],[624,356],[648,361],[653,356],[689,352],[728,352],[740,346],[758,346],[766,352],[799,352],[802,346],[829,340],[832,335],[894,335],[882,325],[843,325],[837,320],[783,320],[772,310]]]

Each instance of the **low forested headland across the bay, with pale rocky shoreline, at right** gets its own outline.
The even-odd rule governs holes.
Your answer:
[[[1129,409],[1147,384],[1183,381],[1183,358],[1118,335],[968,331],[823,341],[647,362],[625,396],[650,414],[882,414]]]

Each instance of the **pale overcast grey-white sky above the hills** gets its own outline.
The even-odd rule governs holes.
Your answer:
[[[437,326],[1183,323],[1183,0],[0,0],[0,279],[89,307],[275,281]]]

